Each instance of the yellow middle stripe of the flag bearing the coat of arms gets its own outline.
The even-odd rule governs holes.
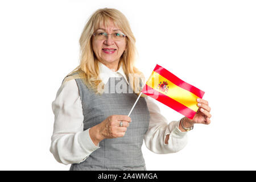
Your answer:
[[[167,82],[168,92],[163,92],[159,89],[158,84],[160,82],[163,83]],[[157,90],[158,92],[172,98],[173,100],[180,102],[180,104],[183,104],[184,106],[189,107],[189,109],[192,109],[194,111],[197,111],[199,107],[196,105],[196,99],[199,98],[195,94],[189,92],[188,90],[185,90],[183,88],[180,88],[179,86],[172,83],[170,80],[167,80],[162,75],[159,75],[158,73],[154,72],[151,75],[151,78],[146,83],[151,88]]]

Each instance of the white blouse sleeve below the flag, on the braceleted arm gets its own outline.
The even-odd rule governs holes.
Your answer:
[[[167,119],[160,114],[158,105],[154,99],[146,97],[148,110],[150,112],[150,124],[144,135],[146,147],[156,154],[168,154],[180,151],[187,144],[187,132],[179,130],[180,121],[168,123]],[[166,135],[170,134],[168,144],[164,143]]]

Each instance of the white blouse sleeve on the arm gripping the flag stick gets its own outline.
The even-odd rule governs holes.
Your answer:
[[[50,151],[59,163],[81,163],[94,151],[89,129],[84,131],[84,116],[75,80],[64,82],[52,102],[55,115]]]

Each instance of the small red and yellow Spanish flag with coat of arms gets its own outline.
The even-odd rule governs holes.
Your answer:
[[[193,119],[199,109],[196,99],[204,96],[204,91],[180,80],[158,64],[144,85],[142,93],[162,102],[189,119]]]

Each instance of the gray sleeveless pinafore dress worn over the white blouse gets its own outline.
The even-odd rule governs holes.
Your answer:
[[[123,77],[110,77],[102,95],[89,90],[80,78],[75,80],[82,102],[84,130],[98,125],[110,115],[128,115],[138,98]],[[84,162],[72,164],[70,170],[146,170],[141,147],[150,114],[143,97],[139,98],[130,118],[132,122],[124,137],[102,140],[100,148]]]

